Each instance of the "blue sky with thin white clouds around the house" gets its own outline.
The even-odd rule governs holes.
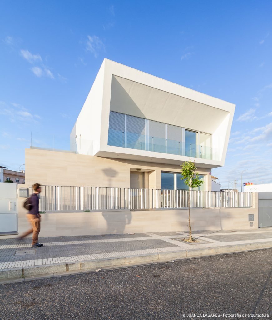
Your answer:
[[[272,2],[0,0],[0,164],[69,149],[104,58],[236,104],[223,188],[272,183]],[[211,119],[212,121],[212,119]]]

